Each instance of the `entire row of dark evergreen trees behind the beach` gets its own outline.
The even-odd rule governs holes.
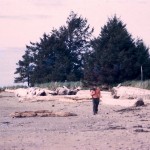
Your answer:
[[[71,12],[66,25],[26,45],[14,82],[114,84],[139,80],[141,66],[143,78],[150,78],[149,48],[142,39],[133,39],[116,15],[108,18],[98,37],[93,32],[86,18]]]

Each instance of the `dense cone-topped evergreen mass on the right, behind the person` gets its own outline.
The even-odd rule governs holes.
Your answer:
[[[112,84],[138,79],[141,65],[150,65],[148,48],[142,41],[135,43],[125,27],[114,16],[101,29],[100,35],[91,42],[93,53],[87,58],[86,80]],[[146,70],[145,78],[148,78]]]

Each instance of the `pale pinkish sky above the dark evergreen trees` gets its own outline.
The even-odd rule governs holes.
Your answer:
[[[25,46],[65,25],[71,11],[87,18],[95,36],[116,14],[133,38],[150,46],[150,0],[0,0],[0,87],[14,85]]]

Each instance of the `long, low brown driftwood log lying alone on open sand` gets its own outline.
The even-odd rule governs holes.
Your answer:
[[[11,113],[12,118],[24,118],[24,117],[69,117],[77,116],[71,112],[53,112],[49,110],[38,110],[38,111],[23,111]]]

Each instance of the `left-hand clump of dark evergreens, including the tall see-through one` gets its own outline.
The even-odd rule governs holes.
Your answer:
[[[50,35],[44,34],[39,42],[27,46],[26,56],[32,60],[27,61],[23,76],[21,70],[26,59],[20,60],[16,73],[20,77],[16,82],[46,83],[50,81],[79,81],[83,79],[84,54],[89,51],[90,30],[87,20],[71,12],[67,18],[66,26],[59,30],[52,30]],[[34,65],[32,72],[28,72],[30,64]],[[30,77],[29,77],[30,76]],[[29,80],[30,79],[30,80]]]

